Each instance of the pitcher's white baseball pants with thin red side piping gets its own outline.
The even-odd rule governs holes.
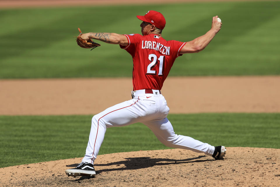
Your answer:
[[[167,119],[169,108],[159,90],[153,90],[153,93],[137,90],[133,94],[133,99],[107,108],[92,118],[88,146],[83,162],[93,164],[107,128],[122,127],[137,122],[149,127],[158,140],[168,147],[213,155],[214,146],[174,133],[173,127]]]

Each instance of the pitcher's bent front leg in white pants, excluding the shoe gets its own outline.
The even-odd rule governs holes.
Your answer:
[[[88,146],[82,162],[93,164],[104,140],[106,128],[122,127],[143,121],[147,108],[139,98],[134,98],[107,108],[92,118]],[[150,107],[151,108],[151,107]]]

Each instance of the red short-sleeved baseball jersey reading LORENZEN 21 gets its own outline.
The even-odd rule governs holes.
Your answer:
[[[166,41],[156,34],[124,34],[125,49],[133,58],[133,90],[161,90],[164,80],[186,42]]]

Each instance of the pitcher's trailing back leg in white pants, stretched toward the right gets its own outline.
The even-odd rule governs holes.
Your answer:
[[[212,156],[215,151],[215,147],[208,143],[203,143],[189,136],[175,134],[167,118],[144,122],[144,124],[153,131],[161,143],[168,147],[188,149],[209,156]]]

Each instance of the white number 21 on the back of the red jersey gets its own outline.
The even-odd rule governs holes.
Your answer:
[[[159,70],[158,70],[158,76],[162,76],[162,71],[163,71],[163,65],[164,65],[164,58],[165,56],[160,56],[159,58],[157,58],[157,56],[155,54],[149,54],[148,59],[150,60],[150,64],[147,67],[147,73],[149,75],[156,75],[157,71],[156,70],[151,70],[153,67],[155,67],[155,65],[157,65],[157,62],[160,63],[159,65]]]

